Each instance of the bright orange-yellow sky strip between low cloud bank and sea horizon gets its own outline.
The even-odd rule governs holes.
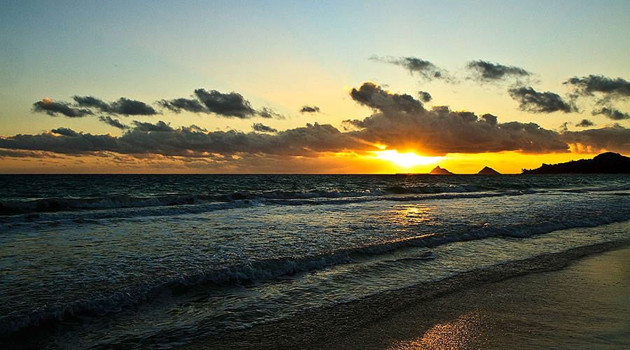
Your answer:
[[[0,150],[1,151],[1,150]],[[442,157],[423,157],[395,150],[366,153],[321,153],[314,157],[235,155],[230,160],[99,153],[98,155],[61,155],[43,151],[14,151],[0,154],[0,173],[218,173],[218,174],[426,174],[436,166],[455,174],[477,174],[491,167],[501,174],[519,174],[542,163],[556,164],[593,158],[588,153],[524,154],[448,153]]]

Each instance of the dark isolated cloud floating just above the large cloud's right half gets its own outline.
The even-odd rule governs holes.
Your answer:
[[[576,112],[577,108],[565,102],[554,92],[537,92],[531,86],[512,87],[507,90],[514,101],[519,102],[519,109],[533,113]]]

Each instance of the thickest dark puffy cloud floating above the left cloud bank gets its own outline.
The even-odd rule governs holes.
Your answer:
[[[196,89],[195,96],[208,111],[219,116],[246,119],[256,114],[249,101],[237,92],[223,94],[217,90]]]

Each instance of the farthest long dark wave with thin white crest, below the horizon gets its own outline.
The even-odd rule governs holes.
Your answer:
[[[603,186],[600,188],[564,188],[558,189],[563,193],[589,193],[589,192],[619,192],[630,190],[630,186]],[[478,195],[479,197],[522,195],[544,193],[547,190],[535,188],[523,188],[523,184],[512,184],[503,188],[473,185],[449,185],[449,186],[393,186],[388,188],[374,188],[365,190],[305,190],[286,191],[272,190],[267,192],[252,193],[237,191],[233,193],[218,194],[169,194],[153,197],[133,197],[130,195],[106,195],[103,197],[87,198],[45,198],[26,201],[0,201],[0,216],[15,216],[24,214],[39,214],[61,211],[87,211],[103,209],[132,209],[146,207],[183,207],[190,205],[216,204],[235,201],[261,201],[271,204],[330,204],[339,203],[336,200],[373,200],[394,199],[448,199],[458,198],[458,195]],[[409,197],[413,195],[419,197]],[[431,197],[437,196],[437,197]],[[329,200],[329,201],[327,201]],[[332,201],[330,201],[332,200]],[[182,213],[189,212],[184,209]],[[194,212],[194,211],[193,211]],[[171,213],[169,213],[171,214]]]

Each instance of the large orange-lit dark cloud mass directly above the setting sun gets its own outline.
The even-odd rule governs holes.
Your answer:
[[[412,97],[392,94],[374,83],[364,83],[350,94],[356,102],[379,110],[364,120],[344,121],[354,130],[353,136],[368,144],[426,155],[567,151],[557,132],[535,123],[497,123],[491,114],[478,118],[470,111],[451,111],[447,106],[427,111]]]

